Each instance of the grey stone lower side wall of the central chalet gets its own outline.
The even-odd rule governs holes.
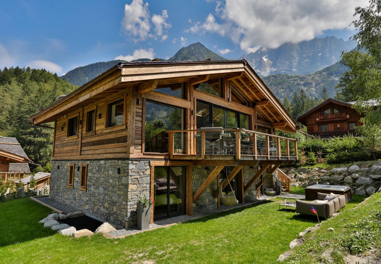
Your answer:
[[[75,163],[74,188],[67,187],[69,163]],[[81,163],[88,163],[86,191],[79,189],[77,166]],[[140,195],[149,195],[149,182],[148,161],[52,161],[50,198],[114,223],[120,229],[136,223],[136,202]]]

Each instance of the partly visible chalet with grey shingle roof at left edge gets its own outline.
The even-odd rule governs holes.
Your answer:
[[[0,136],[0,175],[3,179],[12,174],[23,177],[30,174],[29,162],[32,162],[20,143],[14,137]]]

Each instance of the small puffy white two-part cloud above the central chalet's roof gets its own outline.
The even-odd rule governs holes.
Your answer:
[[[164,41],[168,38],[168,30],[172,27],[171,23],[166,22],[167,18],[167,10],[162,10],[162,14],[153,14],[151,17],[148,3],[144,3],[143,0],[133,0],[130,5],[125,5],[121,24],[135,42],[144,41],[147,37],[154,40],[160,38],[160,41]]]

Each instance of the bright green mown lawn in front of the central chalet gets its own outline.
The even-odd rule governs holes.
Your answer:
[[[364,198],[356,197],[356,202]],[[139,263],[145,260],[155,263],[275,263],[299,232],[316,224],[315,217],[298,217],[293,209],[279,210],[281,202],[281,198],[275,198],[120,240],[109,240],[102,235],[79,239],[53,235],[38,224],[50,209],[28,198],[6,201],[0,204],[0,223],[4,226],[0,244],[7,245],[0,248],[0,259],[3,263]],[[354,203],[348,206],[353,207]],[[11,212],[11,209],[16,211]],[[14,238],[6,240],[10,233]],[[37,238],[32,240],[32,237]]]

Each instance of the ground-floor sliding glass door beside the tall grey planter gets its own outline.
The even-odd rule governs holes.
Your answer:
[[[154,220],[185,213],[185,167],[155,167]]]

